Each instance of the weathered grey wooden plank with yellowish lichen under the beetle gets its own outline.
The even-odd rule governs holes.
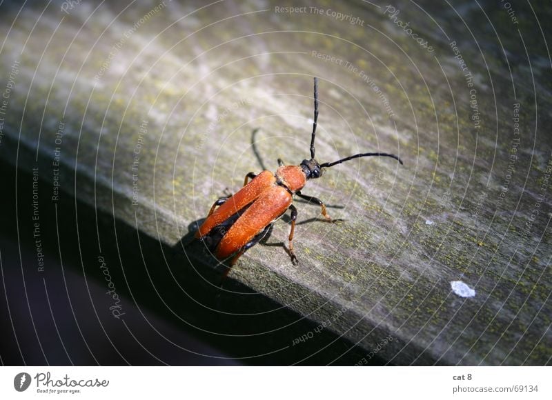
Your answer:
[[[550,362],[550,10],[538,23],[490,1],[61,5],[1,6],[0,90],[17,70],[1,157],[51,182],[59,157],[60,197],[181,250],[247,172],[308,157],[317,76],[317,158],[379,150],[404,166],[326,171],[303,192],[344,222],[297,201],[300,266],[259,245],[230,277],[386,362]],[[184,251],[198,270],[212,261]]]

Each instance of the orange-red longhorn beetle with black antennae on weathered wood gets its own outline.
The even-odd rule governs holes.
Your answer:
[[[328,222],[331,219],[324,203],[316,197],[302,194],[308,179],[322,177],[323,168],[331,168],[337,164],[359,157],[391,157],[402,164],[395,154],[384,152],[368,152],[355,154],[332,163],[318,163],[315,159],[315,137],[318,120],[318,79],[314,79],[314,121],[311,134],[311,159],[303,160],[299,166],[286,166],[278,159],[279,168],[276,172],[264,170],[259,174],[246,174],[244,186],[237,193],[221,197],[210,208],[205,221],[199,226],[195,238],[206,243],[206,246],[219,260],[228,259],[233,266],[239,257],[249,248],[262,241],[272,229],[273,223],[291,210],[291,228],[288,236],[288,252],[293,264],[297,257],[293,252],[293,234],[297,220],[297,208],[293,206],[293,196],[300,197],[321,207],[322,216]],[[251,179],[251,181],[249,181]],[[228,274],[226,270],[226,274]]]

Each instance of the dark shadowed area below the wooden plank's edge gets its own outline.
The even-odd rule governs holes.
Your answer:
[[[308,356],[309,364],[351,365],[366,356],[328,330],[293,346],[317,324],[231,278],[221,290],[216,270],[190,264],[181,252],[75,199],[62,195],[55,205],[43,181],[35,186],[33,221],[32,174],[18,171],[16,181],[12,166],[1,163],[1,170],[10,187],[0,199],[3,365],[213,365],[233,358],[287,365]],[[197,243],[186,250],[202,252]],[[106,293],[105,270],[118,303]]]

